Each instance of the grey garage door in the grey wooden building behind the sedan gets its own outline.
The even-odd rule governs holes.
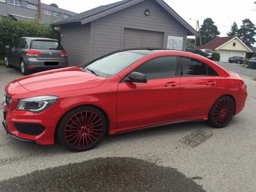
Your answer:
[[[124,49],[136,47],[163,48],[164,34],[156,31],[124,29]]]

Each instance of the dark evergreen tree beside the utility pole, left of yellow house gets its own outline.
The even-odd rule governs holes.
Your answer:
[[[206,18],[204,20],[203,25],[201,25],[200,33],[202,45],[210,42],[212,39],[220,35],[218,27],[214,25],[214,22],[211,18]],[[197,38],[196,44],[199,45],[199,38]]]

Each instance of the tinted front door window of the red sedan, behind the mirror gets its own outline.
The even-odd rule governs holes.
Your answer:
[[[148,79],[173,77],[176,70],[176,57],[155,58],[135,69],[136,72],[147,75]]]

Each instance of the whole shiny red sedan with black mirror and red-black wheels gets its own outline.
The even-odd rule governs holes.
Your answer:
[[[19,78],[5,87],[10,137],[74,151],[105,134],[208,121],[224,127],[245,105],[244,81],[200,55],[121,50],[85,65]]]

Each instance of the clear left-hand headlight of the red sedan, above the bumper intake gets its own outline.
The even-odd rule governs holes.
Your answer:
[[[16,109],[40,113],[51,107],[58,99],[58,97],[51,95],[20,99]]]

